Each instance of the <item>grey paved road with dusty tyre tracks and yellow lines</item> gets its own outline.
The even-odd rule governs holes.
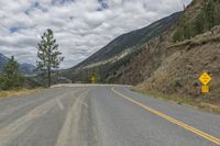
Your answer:
[[[220,116],[120,86],[0,99],[0,146],[217,146]]]

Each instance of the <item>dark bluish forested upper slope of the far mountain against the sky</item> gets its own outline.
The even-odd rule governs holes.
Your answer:
[[[174,24],[176,20],[180,16],[180,14],[182,12],[174,13],[170,16],[158,20],[146,27],[120,35],[108,45],[106,45],[103,48],[88,57],[86,60],[81,61],[76,67],[87,66],[94,63],[107,60],[127,49],[139,46],[147,42],[148,40],[158,36],[162,32],[167,30],[167,27]]]

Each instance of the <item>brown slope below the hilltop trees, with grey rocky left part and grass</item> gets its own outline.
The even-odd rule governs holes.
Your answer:
[[[136,85],[141,92],[220,112],[220,26],[177,44],[168,43],[166,36],[148,43],[123,68],[119,82]],[[198,80],[204,71],[212,77],[208,98],[200,92]]]

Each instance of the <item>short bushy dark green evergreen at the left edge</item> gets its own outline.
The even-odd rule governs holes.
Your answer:
[[[22,87],[23,81],[23,77],[19,74],[19,64],[14,60],[14,57],[12,56],[1,72],[0,88],[2,90],[20,88]]]

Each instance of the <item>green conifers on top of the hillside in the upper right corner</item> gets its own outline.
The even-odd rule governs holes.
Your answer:
[[[174,42],[188,40],[210,31],[216,25],[220,25],[220,1],[206,0],[200,13],[190,23],[187,22],[187,16],[183,15],[180,24],[173,36]]]

